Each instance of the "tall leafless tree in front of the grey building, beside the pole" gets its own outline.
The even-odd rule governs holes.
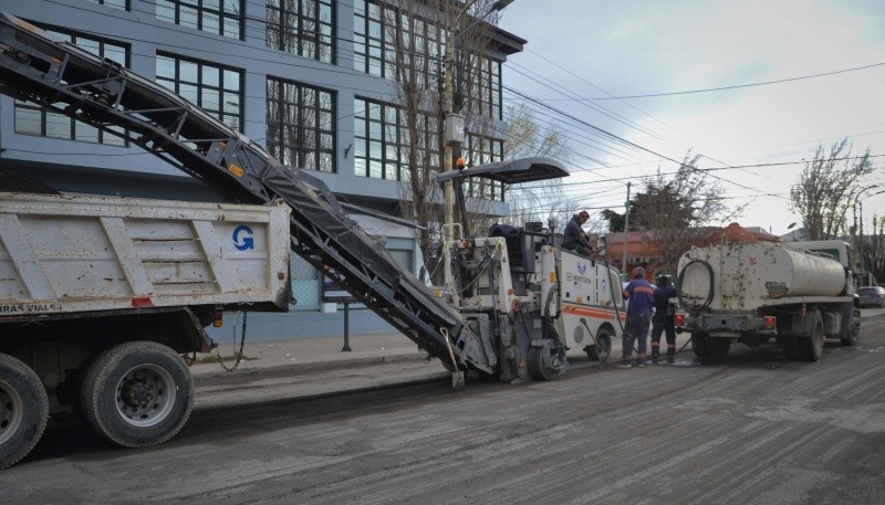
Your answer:
[[[379,0],[382,19],[384,76],[394,82],[396,126],[384,134],[397,138],[400,151],[400,206],[419,227],[415,229],[425,259],[430,256],[431,230],[442,222],[441,191],[434,180],[440,167],[450,164],[445,156],[444,117],[451,104],[447,92],[454,92],[455,107],[465,115],[473,133],[489,134],[491,120],[487,99],[492,90],[486,78],[490,60],[487,48],[498,21],[492,0],[421,2]],[[477,21],[475,15],[481,15]],[[448,46],[457,42],[452,67],[457,78],[445,75]],[[446,80],[454,83],[446,86]],[[449,90],[447,90],[449,87]],[[389,123],[388,123],[389,124]],[[473,155],[473,156],[470,156]],[[467,158],[479,159],[467,152]],[[485,182],[482,182],[485,183]],[[473,208],[487,194],[485,187],[472,188]]]

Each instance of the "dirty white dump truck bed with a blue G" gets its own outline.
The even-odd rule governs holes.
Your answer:
[[[289,207],[0,192],[0,317],[285,309]]]

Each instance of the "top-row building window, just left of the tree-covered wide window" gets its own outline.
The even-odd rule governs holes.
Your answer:
[[[267,0],[267,45],[302,57],[335,62],[332,0]]]

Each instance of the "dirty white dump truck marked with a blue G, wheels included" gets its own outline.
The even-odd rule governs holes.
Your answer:
[[[74,409],[124,446],[187,421],[223,311],[287,311],[289,207],[0,192],[0,467]]]

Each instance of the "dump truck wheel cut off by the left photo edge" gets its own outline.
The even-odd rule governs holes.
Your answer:
[[[43,435],[49,398],[28,365],[0,354],[0,469],[28,455]]]

